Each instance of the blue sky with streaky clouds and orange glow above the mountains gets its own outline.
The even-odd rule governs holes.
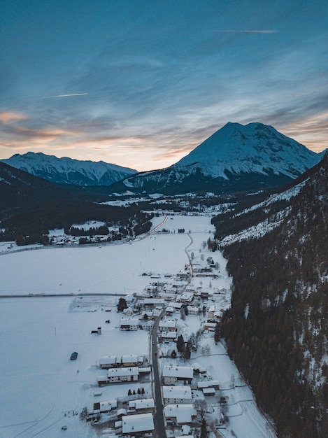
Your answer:
[[[327,0],[2,0],[0,159],[162,169],[227,122],[328,147]]]

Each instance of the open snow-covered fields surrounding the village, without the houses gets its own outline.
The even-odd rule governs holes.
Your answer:
[[[155,218],[155,225],[162,220]],[[150,281],[143,273],[185,271],[187,246],[188,253],[194,253],[194,262],[204,253],[205,257],[213,255],[220,264],[220,278],[211,281],[213,284],[194,278],[192,285],[228,290],[221,302],[222,307],[229,305],[231,281],[225,271],[225,260],[218,252],[210,254],[207,248],[201,249],[201,243],[213,236],[211,218],[171,216],[163,227],[171,232],[154,233],[132,243],[44,248],[0,256],[0,295],[7,296],[0,301],[1,438],[56,438],[63,434],[95,437],[97,430],[79,419],[83,407],[92,409],[94,402],[124,399],[129,389],[141,386],[151,396],[151,385],[147,382],[99,388],[97,376],[106,372],[97,363],[104,355],[148,357],[147,331],[118,330],[121,315],[116,312],[117,297],[142,292]],[[186,233],[178,234],[180,228],[185,228]],[[94,296],[71,296],[79,293]],[[71,295],[60,296],[66,294]],[[108,319],[110,323],[106,323]],[[184,333],[197,330],[197,321],[198,316],[187,316]],[[91,334],[97,327],[101,327],[101,335]],[[227,386],[233,374],[237,381],[238,371],[222,344],[215,346],[211,337],[202,341],[211,343],[212,355],[192,356],[191,362],[204,364],[213,379],[227,382]],[[78,352],[76,361],[69,360],[73,351]],[[101,400],[94,396],[99,391]],[[274,436],[266,430],[255,404],[245,402],[252,400],[248,388],[227,389],[226,395],[231,400],[229,413],[234,414],[233,410],[236,413],[231,415],[229,428],[222,431],[224,437],[232,437],[231,430],[237,437]],[[63,425],[67,426],[66,431],[61,430]]]

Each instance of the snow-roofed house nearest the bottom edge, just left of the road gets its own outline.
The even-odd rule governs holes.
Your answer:
[[[154,418],[151,413],[122,417],[123,437],[152,437],[154,429]]]

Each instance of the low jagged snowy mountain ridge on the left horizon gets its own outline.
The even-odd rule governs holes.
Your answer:
[[[33,152],[24,155],[15,154],[1,161],[52,183],[73,185],[110,185],[136,173],[128,167],[120,167],[103,161],[80,161]]]

